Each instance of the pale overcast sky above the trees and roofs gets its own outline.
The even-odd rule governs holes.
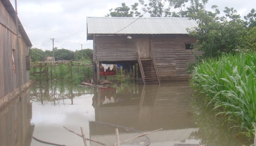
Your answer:
[[[15,8],[15,1],[10,1]],[[122,2],[130,7],[138,0],[17,0],[18,17],[32,47],[52,50],[50,39],[54,38],[54,47],[58,49],[76,51],[81,44],[83,49],[92,49],[92,41],[86,41],[86,17],[104,17],[110,8],[121,6]],[[209,0],[206,9],[212,5],[220,10],[225,6],[235,8],[243,18],[252,8],[256,9],[256,0]]]

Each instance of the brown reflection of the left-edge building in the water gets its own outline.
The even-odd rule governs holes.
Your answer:
[[[0,146],[30,146],[34,125],[30,89],[0,111]]]

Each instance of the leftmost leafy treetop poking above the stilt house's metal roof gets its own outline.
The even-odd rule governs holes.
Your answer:
[[[134,3],[134,5],[130,7],[126,6],[126,4],[123,2],[121,4],[121,7],[117,7],[112,11],[113,9],[110,9],[110,13],[107,14],[105,17],[138,17],[140,16],[140,12],[138,12],[138,3]],[[132,9],[130,11],[130,9]]]

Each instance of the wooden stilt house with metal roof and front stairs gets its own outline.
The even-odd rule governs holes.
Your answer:
[[[196,38],[186,28],[196,27],[187,18],[87,17],[87,40],[93,40],[94,80],[101,63],[138,63],[144,84],[160,80],[188,80],[185,71],[202,54],[191,44]],[[96,78],[97,77],[97,78]]]

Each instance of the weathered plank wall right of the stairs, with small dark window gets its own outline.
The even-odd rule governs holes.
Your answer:
[[[185,44],[195,43],[196,38],[186,34],[151,38],[151,52],[154,54],[161,80],[188,80],[186,67],[195,61],[194,54],[202,52],[196,49],[186,50]]]

